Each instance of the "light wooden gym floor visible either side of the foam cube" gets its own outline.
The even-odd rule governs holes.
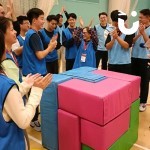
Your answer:
[[[150,91],[147,109],[139,115],[138,140],[131,150],[150,150]],[[45,150],[41,145],[41,133],[29,127],[27,129],[30,139],[31,150]]]

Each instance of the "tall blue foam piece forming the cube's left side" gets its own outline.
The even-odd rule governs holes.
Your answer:
[[[58,150],[58,84],[70,79],[54,74],[52,83],[43,91],[40,104],[42,145],[50,150]]]

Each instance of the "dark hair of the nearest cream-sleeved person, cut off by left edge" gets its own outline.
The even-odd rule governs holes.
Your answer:
[[[0,30],[0,72],[3,71],[1,62],[4,53],[5,53],[5,38],[4,38],[4,33]]]

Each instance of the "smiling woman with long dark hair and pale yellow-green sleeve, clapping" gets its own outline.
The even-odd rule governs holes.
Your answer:
[[[17,59],[12,52],[12,44],[16,42],[16,31],[13,29],[12,20],[9,18],[0,17],[0,30],[5,36],[6,57],[2,62],[5,74],[18,84],[19,91],[21,92],[22,96],[24,96],[31,88],[31,85],[28,85],[28,83],[30,83],[30,78],[32,77],[28,76],[25,82],[20,83],[22,81],[22,77],[19,72]]]

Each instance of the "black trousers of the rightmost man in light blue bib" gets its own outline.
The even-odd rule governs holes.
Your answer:
[[[149,66],[148,59],[131,58],[132,74],[141,77],[140,103],[147,103],[149,91]]]

